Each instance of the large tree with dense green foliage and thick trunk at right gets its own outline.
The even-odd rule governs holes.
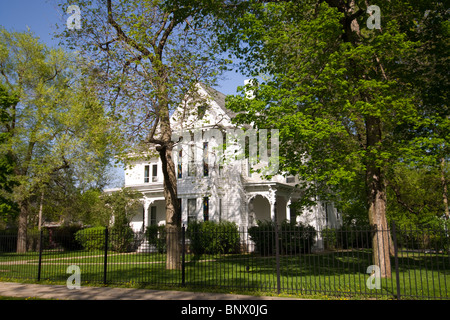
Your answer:
[[[253,99],[243,90],[228,100],[245,111],[237,121],[280,130],[280,172],[298,174],[307,195],[345,200],[346,186],[363,174],[369,221],[379,230],[373,263],[390,277],[386,181],[397,163],[424,156],[415,142],[425,107],[407,70],[421,52],[417,21],[439,4],[378,1],[379,29],[367,1],[202,5],[217,12],[241,70],[259,80],[245,88]],[[427,129],[425,139],[436,133]]]

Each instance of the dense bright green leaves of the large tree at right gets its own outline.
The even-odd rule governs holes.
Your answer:
[[[280,172],[299,174],[322,198],[330,190],[352,198],[368,168],[391,179],[398,163],[436,166],[437,154],[448,154],[448,11],[440,2],[377,5],[380,30],[366,27],[363,1],[249,3],[222,35],[242,70],[262,79],[253,99],[245,91],[227,99],[241,111],[236,121],[278,128]],[[424,21],[426,8],[435,11]],[[432,70],[442,70],[440,83]]]

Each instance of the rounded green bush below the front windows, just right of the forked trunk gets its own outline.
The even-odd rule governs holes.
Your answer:
[[[188,225],[186,236],[194,255],[239,252],[239,232],[232,222],[192,222]]]

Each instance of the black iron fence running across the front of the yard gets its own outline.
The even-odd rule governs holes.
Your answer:
[[[179,244],[168,263],[171,237]],[[379,265],[374,237],[389,250]],[[172,241],[174,242],[174,241]],[[133,233],[105,228],[29,232],[17,252],[17,234],[0,231],[0,281],[130,284],[274,292],[298,296],[449,299],[450,243],[446,231],[315,231],[304,227],[182,228]],[[74,282],[72,282],[72,280]],[[70,283],[69,283],[70,281]]]

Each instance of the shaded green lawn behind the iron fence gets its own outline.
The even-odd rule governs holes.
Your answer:
[[[276,258],[254,254],[186,255],[185,287],[179,270],[165,269],[165,254],[108,252],[107,282],[128,287],[207,290],[244,294],[275,295]],[[399,254],[402,298],[450,298],[448,254]],[[28,279],[38,273],[36,253],[0,254],[0,280]],[[393,277],[381,279],[381,289],[368,289],[371,251],[351,250],[280,257],[280,293],[283,296],[320,299],[392,299],[397,294],[394,260]],[[78,265],[85,284],[103,283],[102,251],[56,252],[42,255],[41,280],[65,284],[69,265]]]

